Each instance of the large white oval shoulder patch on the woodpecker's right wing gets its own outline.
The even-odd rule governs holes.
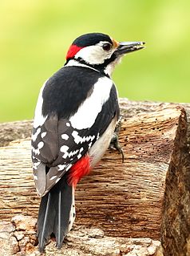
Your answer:
[[[102,77],[94,84],[93,92],[78,108],[77,113],[70,117],[73,128],[85,129],[93,126],[103,104],[109,100],[113,81]]]

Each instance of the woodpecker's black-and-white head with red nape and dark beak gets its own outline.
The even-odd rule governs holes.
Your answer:
[[[66,63],[74,59],[111,75],[123,55],[142,48],[144,42],[120,43],[109,35],[90,33],[81,35],[73,41],[66,55]]]

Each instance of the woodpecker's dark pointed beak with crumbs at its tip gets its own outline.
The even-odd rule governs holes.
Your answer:
[[[115,53],[125,55],[132,51],[138,51],[144,48],[144,42],[120,42]]]

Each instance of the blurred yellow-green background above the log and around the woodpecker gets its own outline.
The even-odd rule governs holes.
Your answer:
[[[190,101],[189,0],[1,0],[0,26],[0,121],[33,118],[42,83],[87,32],[146,42],[113,74],[121,97]]]

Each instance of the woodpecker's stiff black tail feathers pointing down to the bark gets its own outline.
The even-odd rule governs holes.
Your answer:
[[[69,232],[70,212],[73,201],[73,189],[67,184],[66,175],[57,185],[42,197],[38,213],[38,242],[42,252],[48,242],[50,234],[55,234],[57,247]]]

